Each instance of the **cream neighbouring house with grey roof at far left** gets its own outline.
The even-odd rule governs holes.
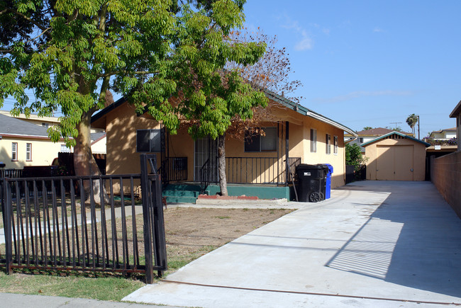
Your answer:
[[[52,142],[45,127],[0,114],[0,161],[5,169],[50,166],[65,143]]]

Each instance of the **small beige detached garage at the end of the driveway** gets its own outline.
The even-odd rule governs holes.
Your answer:
[[[401,132],[361,144],[368,158],[367,180],[424,181],[426,147],[430,145]]]

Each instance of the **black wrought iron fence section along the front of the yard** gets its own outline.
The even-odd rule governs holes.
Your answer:
[[[152,156],[141,157],[141,174],[4,178],[0,265],[7,273],[13,268],[144,273],[152,283],[154,270],[162,275],[167,269],[167,256],[160,176],[148,174],[148,159]]]

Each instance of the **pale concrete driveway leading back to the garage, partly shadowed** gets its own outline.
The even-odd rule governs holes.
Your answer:
[[[432,183],[356,182],[123,300],[184,307],[461,305],[461,219]]]

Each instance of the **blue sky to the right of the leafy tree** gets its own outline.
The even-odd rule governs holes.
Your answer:
[[[357,131],[410,131],[411,113],[421,137],[455,127],[461,1],[248,0],[244,10],[248,28],[287,47],[301,105]]]

